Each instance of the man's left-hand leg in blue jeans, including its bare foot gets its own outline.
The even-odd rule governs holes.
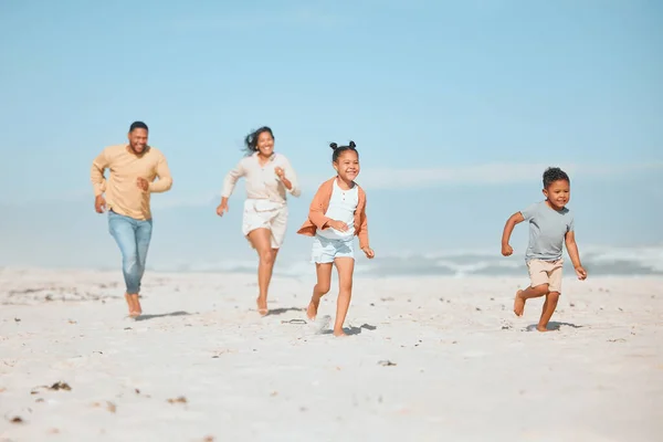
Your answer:
[[[138,252],[136,246],[135,220],[114,212],[108,213],[108,231],[122,253],[122,273],[124,275],[126,293],[125,298],[129,306],[129,316],[136,316],[136,298],[138,293],[136,275],[138,273]]]

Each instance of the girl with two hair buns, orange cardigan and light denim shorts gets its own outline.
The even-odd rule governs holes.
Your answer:
[[[334,336],[345,336],[343,324],[348,313],[355,271],[355,235],[359,248],[370,260],[375,256],[368,245],[366,193],[354,180],[359,175],[359,154],[354,141],[348,146],[329,145],[334,149],[332,165],[337,176],[323,182],[308,209],[308,220],[297,231],[314,236],[312,261],[315,263],[317,284],[306,316],[315,319],[320,297],[329,292],[332,266],[338,271],[338,301]]]

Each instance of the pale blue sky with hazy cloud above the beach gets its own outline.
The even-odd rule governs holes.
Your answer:
[[[294,231],[349,139],[378,253],[498,254],[554,165],[581,252],[663,244],[661,54],[663,7],[644,0],[0,0],[0,265],[117,263],[90,166],[135,119],[175,179],[152,199],[151,262],[253,256],[243,187],[213,212],[262,125],[305,185],[287,256],[307,256]]]

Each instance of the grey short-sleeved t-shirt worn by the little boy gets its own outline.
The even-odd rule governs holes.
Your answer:
[[[564,208],[551,209],[546,201],[537,202],[522,210],[525,221],[529,222],[529,243],[525,261],[557,261],[561,259],[564,239],[573,230],[573,215]]]

